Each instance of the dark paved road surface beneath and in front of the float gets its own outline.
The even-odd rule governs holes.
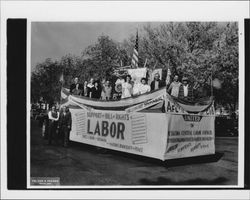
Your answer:
[[[237,149],[238,138],[216,138],[213,158],[164,163],[78,143],[48,146],[31,121],[31,177],[60,177],[61,185],[236,185]]]

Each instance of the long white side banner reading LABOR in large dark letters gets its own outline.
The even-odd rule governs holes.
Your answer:
[[[165,113],[70,109],[70,140],[164,160]]]

